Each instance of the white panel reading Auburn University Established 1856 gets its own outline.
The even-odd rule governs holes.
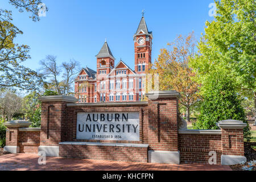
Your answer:
[[[76,138],[139,141],[139,113],[77,113]]]

